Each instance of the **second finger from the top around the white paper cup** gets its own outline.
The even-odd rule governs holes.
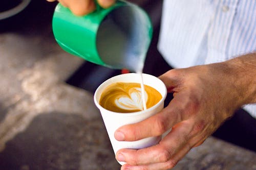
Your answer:
[[[130,165],[166,162],[187,144],[192,130],[188,121],[181,122],[159,144],[140,150],[119,150],[116,159]]]

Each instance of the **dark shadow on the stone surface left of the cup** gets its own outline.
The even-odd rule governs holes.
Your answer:
[[[91,153],[90,158],[84,153]],[[35,117],[6,144],[0,169],[75,170],[81,163],[88,170],[97,170],[92,163],[101,164],[101,169],[118,169],[114,157],[101,119],[87,121],[79,115],[53,112]]]

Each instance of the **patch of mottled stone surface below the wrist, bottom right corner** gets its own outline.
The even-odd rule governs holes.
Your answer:
[[[243,170],[256,169],[256,154],[214,137],[190,152],[176,165],[175,170]]]

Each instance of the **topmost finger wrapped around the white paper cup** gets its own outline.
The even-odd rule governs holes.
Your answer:
[[[175,99],[173,101],[175,102]],[[118,128],[115,132],[115,138],[119,141],[136,141],[146,137],[162,135],[172,126],[181,122],[182,110],[178,106],[169,105],[142,122]]]

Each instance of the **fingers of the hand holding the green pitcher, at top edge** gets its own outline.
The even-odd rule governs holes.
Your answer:
[[[47,1],[54,2],[56,0]],[[94,0],[58,0],[58,2],[78,16],[89,14],[96,9]],[[109,8],[116,0],[97,0],[97,2],[102,8]]]

